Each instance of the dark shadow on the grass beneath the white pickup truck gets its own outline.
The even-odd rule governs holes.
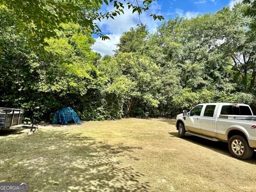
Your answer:
[[[178,131],[177,132],[169,132],[169,134],[172,137],[178,137]],[[227,142],[221,142],[221,141],[211,141],[208,139],[204,139],[201,137],[196,137],[194,135],[186,135],[184,140],[195,143],[199,146],[206,147],[208,149],[211,149],[213,151],[216,151],[220,154],[226,155],[231,157],[228,149],[228,143]],[[241,160],[247,163],[256,164],[256,152],[254,151],[253,156],[251,159],[248,160]]]

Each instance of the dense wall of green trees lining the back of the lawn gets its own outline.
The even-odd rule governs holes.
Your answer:
[[[42,57],[10,9],[0,7],[0,105],[24,108],[26,121],[48,122],[67,106],[83,120],[174,117],[203,102],[255,109],[256,44],[247,5],[171,19],[153,34],[143,25],[131,28],[115,55],[102,59],[91,49],[92,30],[66,20],[44,38]]]

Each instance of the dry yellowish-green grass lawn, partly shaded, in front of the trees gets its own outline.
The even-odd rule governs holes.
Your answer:
[[[173,120],[122,119],[0,133],[0,182],[30,191],[255,191],[256,154],[177,137]]]

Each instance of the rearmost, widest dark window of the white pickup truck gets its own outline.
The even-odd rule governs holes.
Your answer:
[[[222,106],[220,115],[252,115],[248,106]]]

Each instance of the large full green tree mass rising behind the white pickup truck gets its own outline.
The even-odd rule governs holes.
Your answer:
[[[165,111],[165,114],[175,115],[182,108],[190,108],[200,102],[252,103],[249,98],[253,98],[251,93],[255,87],[255,48],[253,34],[246,27],[250,20],[243,17],[243,10],[244,6],[238,4],[233,10],[224,7],[215,14],[192,19],[175,18],[164,22],[149,37],[149,49],[144,54],[165,71],[173,69],[170,79],[177,78],[179,82],[178,86],[171,85],[172,91],[162,94],[165,98],[170,96],[160,103],[159,113]],[[237,54],[245,55],[245,65],[243,60],[242,63],[233,61],[233,55]],[[244,73],[237,73],[237,63],[246,71],[247,78],[243,77]],[[250,67],[244,67],[246,65]],[[166,74],[162,75],[166,79]],[[169,88],[165,87],[166,90]],[[249,91],[248,94],[240,93]],[[243,100],[243,97],[248,99]]]

